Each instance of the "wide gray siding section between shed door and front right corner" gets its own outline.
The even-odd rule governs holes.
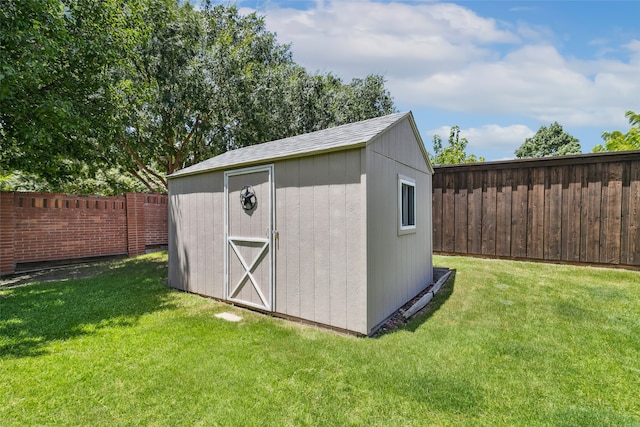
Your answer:
[[[275,311],[367,333],[361,151],[275,163]]]

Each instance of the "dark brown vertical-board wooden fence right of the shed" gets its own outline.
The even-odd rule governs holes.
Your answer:
[[[433,248],[640,266],[640,151],[436,167]]]

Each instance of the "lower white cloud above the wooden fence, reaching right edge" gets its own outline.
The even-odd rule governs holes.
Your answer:
[[[602,61],[586,68],[588,72],[581,72],[580,64],[568,62],[552,46],[524,46],[499,61],[415,80],[390,79],[389,86],[408,104],[519,114],[567,125],[615,123],[623,118],[625,105],[637,105],[640,67]]]

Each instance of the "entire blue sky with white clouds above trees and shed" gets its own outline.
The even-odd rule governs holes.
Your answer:
[[[640,111],[640,1],[247,0],[310,72],[382,74],[425,145],[458,125],[468,153],[514,150],[554,121],[583,152]]]

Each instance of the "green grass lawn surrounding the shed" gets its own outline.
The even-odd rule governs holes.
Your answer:
[[[0,424],[640,425],[639,272],[435,263],[455,280],[377,339],[173,291],[166,254],[0,288]]]

